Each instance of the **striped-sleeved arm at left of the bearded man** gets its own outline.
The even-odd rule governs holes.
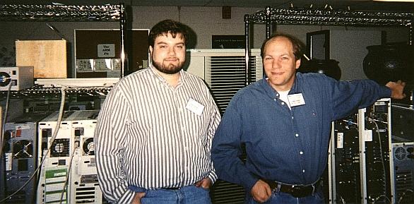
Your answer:
[[[122,167],[128,111],[119,89],[113,88],[100,110],[95,128],[97,176],[103,195],[111,203],[131,203],[134,198],[134,192],[128,190]]]

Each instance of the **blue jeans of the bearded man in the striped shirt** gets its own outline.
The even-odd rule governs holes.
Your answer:
[[[146,195],[141,198],[141,204],[211,204],[210,190],[194,185],[177,190],[147,190],[136,187],[131,190],[146,192]]]

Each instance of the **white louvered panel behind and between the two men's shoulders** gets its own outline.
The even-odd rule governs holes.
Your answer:
[[[206,82],[222,115],[233,95],[246,86],[246,79],[247,83],[253,83],[263,76],[260,56],[249,56],[248,77],[245,66],[242,53],[239,56],[206,57]]]

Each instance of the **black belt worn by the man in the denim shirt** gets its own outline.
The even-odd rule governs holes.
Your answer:
[[[279,191],[283,193],[289,193],[295,198],[302,198],[306,196],[311,196],[314,193],[315,188],[319,184],[317,181],[315,184],[307,185],[307,186],[300,186],[300,185],[286,185],[280,184],[276,181],[266,181],[264,180],[272,189],[272,191],[276,191],[278,186],[280,186]]]

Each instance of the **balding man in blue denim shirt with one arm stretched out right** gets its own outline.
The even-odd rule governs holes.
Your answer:
[[[319,185],[327,162],[331,121],[380,98],[405,97],[405,83],[337,81],[296,73],[303,43],[278,34],[261,47],[266,78],[239,90],[213,138],[220,179],[249,191],[247,203],[324,203]],[[239,159],[245,145],[247,161]]]

